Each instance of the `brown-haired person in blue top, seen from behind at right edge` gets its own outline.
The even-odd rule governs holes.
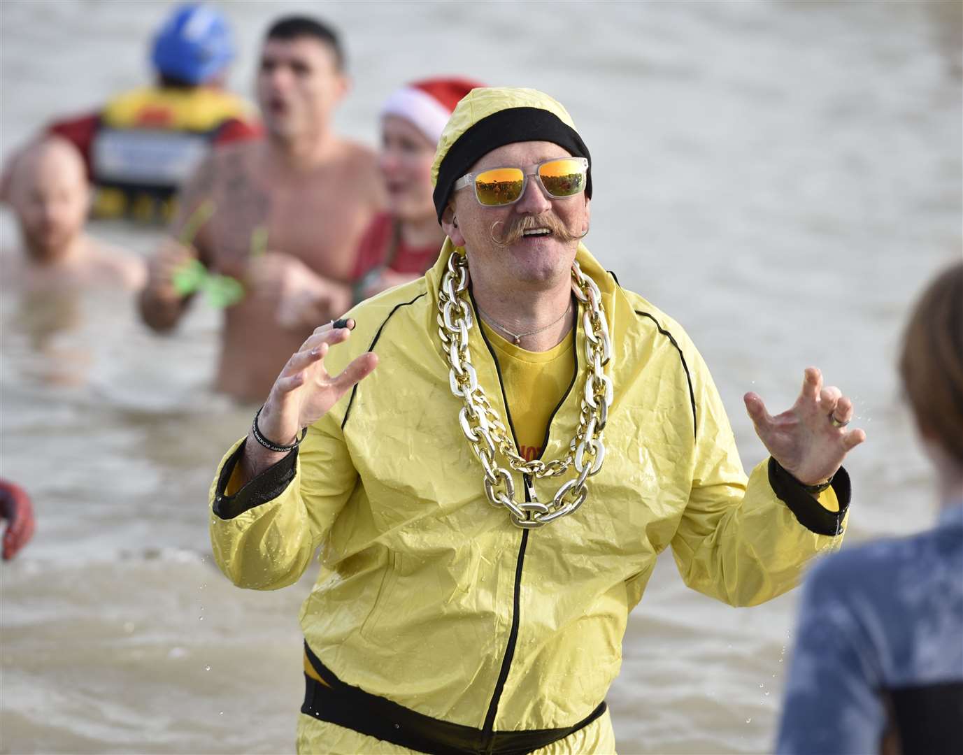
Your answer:
[[[963,263],[917,303],[899,374],[936,472],[939,521],[813,570],[779,753],[963,752]]]

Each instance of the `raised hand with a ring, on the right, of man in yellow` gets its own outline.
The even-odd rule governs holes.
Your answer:
[[[769,454],[805,485],[835,475],[846,454],[866,440],[863,430],[846,427],[853,416],[852,402],[835,385],[823,388],[816,367],[806,368],[799,398],[782,414],[770,415],[756,393],[742,400]]]

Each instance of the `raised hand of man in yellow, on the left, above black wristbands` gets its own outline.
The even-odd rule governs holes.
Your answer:
[[[339,325],[342,321],[338,321]],[[347,341],[354,321],[348,320],[344,327],[326,323],[291,355],[280,375],[274,380],[268,401],[257,420],[261,435],[279,446],[294,443],[303,428],[317,422],[364,377],[377,367],[377,355],[366,351],[355,357],[339,375],[331,377],[325,370],[325,354],[328,349]],[[283,453],[261,446],[248,433],[245,444],[245,477],[249,480],[278,461]]]

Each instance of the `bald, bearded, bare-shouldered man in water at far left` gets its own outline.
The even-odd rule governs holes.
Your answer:
[[[91,188],[83,158],[73,144],[52,137],[18,155],[11,173],[10,199],[24,253],[0,257],[5,287],[36,292],[143,285],[140,259],[84,232]]]

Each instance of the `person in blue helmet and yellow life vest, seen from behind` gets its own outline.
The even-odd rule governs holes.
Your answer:
[[[121,92],[96,113],[47,128],[83,155],[96,188],[94,217],[168,221],[177,188],[212,145],[259,134],[250,106],[222,89],[234,56],[220,12],[179,6],[153,40],[152,86]]]

